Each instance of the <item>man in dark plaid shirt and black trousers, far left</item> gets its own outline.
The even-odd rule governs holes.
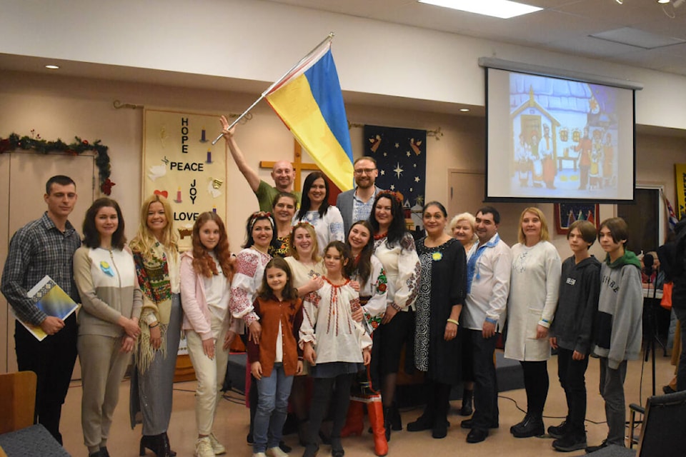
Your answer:
[[[59,418],[76,362],[76,314],[62,320],[47,316],[27,291],[49,275],[71,298],[79,303],[74,283],[72,258],[81,238],[67,218],[76,204],[76,184],[68,176],[53,176],[45,185],[48,211],[41,219],[16,231],[2,272],[0,289],[26,323],[40,326],[48,334],[38,341],[16,323],[14,343],[20,371],[38,376],[35,416],[59,443]]]

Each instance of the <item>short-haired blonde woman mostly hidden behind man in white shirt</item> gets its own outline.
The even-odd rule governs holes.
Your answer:
[[[471,213],[458,214],[450,221],[450,233],[453,238],[462,243],[464,252],[467,253],[467,260],[477,251],[479,247],[479,237],[476,233],[477,219]],[[462,408],[459,413],[462,416],[472,416],[472,398],[474,397],[474,369],[472,368],[474,358],[472,358],[472,340],[469,332],[460,332],[462,340]]]

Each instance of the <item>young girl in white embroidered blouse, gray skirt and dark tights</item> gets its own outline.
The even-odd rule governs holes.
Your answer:
[[[319,427],[332,397],[332,456],[344,455],[341,429],[350,386],[359,364],[368,365],[371,358],[372,338],[353,319],[353,311],[359,308],[359,294],[346,277],[344,268],[350,260],[350,251],[341,241],[329,243],[324,249],[324,285],[309,293],[303,304],[300,345],[304,359],[312,364],[310,376],[314,378],[304,457],[314,457],[319,450]]]

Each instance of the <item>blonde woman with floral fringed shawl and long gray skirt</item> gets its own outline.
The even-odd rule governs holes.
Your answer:
[[[172,455],[166,430],[172,416],[172,387],[181,336],[179,250],[169,220],[172,214],[167,199],[150,196],[141,206],[138,232],[129,245],[143,292],[141,338],[131,374],[129,412],[131,427],[136,424],[136,414],[142,414],[141,452],[149,448],[157,457]]]

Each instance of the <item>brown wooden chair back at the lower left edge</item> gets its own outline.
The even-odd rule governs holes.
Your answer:
[[[0,374],[0,433],[33,425],[37,382],[33,371]]]

